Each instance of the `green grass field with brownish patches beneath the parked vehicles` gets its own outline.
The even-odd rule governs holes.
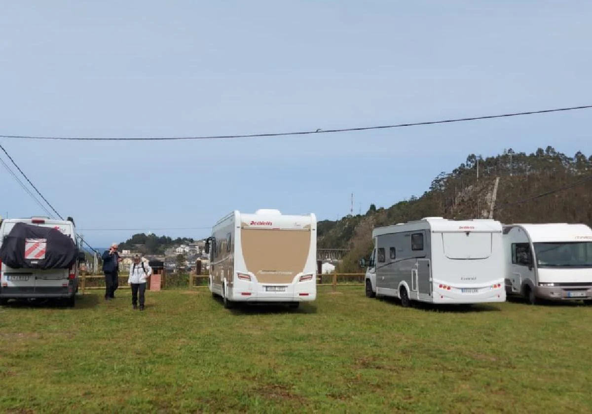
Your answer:
[[[0,308],[0,411],[590,412],[592,307],[403,309],[362,287],[298,310],[207,290]]]

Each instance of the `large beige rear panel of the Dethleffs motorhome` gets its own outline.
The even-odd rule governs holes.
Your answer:
[[[310,230],[240,231],[244,264],[259,283],[292,283],[306,266]]]

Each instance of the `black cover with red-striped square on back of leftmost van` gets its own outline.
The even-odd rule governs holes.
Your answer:
[[[78,248],[58,229],[17,223],[2,241],[0,260],[12,269],[69,269]]]

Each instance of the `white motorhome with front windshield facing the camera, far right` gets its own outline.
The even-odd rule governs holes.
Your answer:
[[[504,225],[506,292],[592,305],[592,229],[585,224]]]

